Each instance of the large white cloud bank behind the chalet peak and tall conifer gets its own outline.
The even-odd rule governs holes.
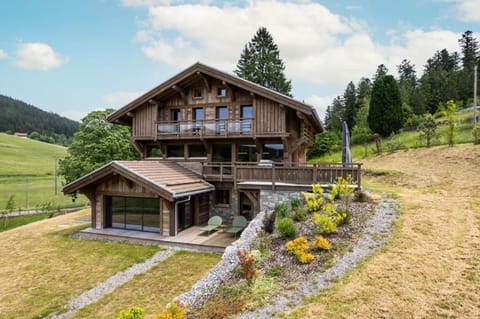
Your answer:
[[[386,33],[391,43],[378,43],[366,22],[310,1],[249,0],[223,7],[176,0],[124,0],[127,3],[148,9],[136,35],[142,52],[178,68],[202,61],[233,71],[260,26],[267,27],[278,45],[287,78],[315,85],[345,86],[371,77],[381,63],[396,75],[403,59],[416,64],[420,73],[435,51],[458,51],[458,34],[444,30],[409,28],[403,34]]]

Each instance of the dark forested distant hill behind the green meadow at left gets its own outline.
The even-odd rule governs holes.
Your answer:
[[[45,136],[71,138],[80,127],[76,121],[1,94],[0,114],[0,132],[37,132]]]

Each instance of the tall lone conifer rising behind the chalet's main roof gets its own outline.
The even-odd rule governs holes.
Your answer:
[[[269,89],[291,96],[291,81],[285,78],[280,51],[265,27],[257,30],[245,45],[235,74]]]

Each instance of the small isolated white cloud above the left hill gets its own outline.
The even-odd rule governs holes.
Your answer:
[[[68,57],[56,53],[49,45],[41,42],[20,43],[14,63],[27,70],[47,71],[68,62]]]

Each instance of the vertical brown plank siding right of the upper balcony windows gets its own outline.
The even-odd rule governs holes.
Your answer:
[[[285,133],[285,108],[278,103],[257,96],[254,101],[254,132],[260,134]]]

